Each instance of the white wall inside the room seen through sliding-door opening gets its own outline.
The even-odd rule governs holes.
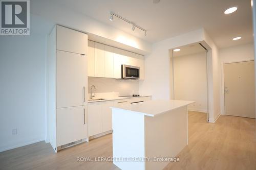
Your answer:
[[[174,90],[176,100],[196,102],[188,110],[207,112],[205,52],[174,57]]]

